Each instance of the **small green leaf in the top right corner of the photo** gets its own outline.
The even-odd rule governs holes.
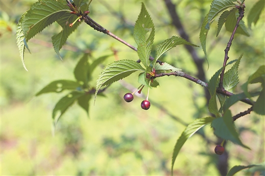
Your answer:
[[[259,16],[264,9],[265,2],[264,0],[258,1],[249,11],[248,14],[248,26],[251,26],[251,23],[254,22],[254,24],[257,23]]]

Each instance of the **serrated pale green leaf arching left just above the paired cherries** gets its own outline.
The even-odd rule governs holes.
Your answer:
[[[132,60],[120,60],[104,67],[97,78],[95,98],[100,87],[123,79],[136,71],[144,72],[145,69],[139,63]]]

